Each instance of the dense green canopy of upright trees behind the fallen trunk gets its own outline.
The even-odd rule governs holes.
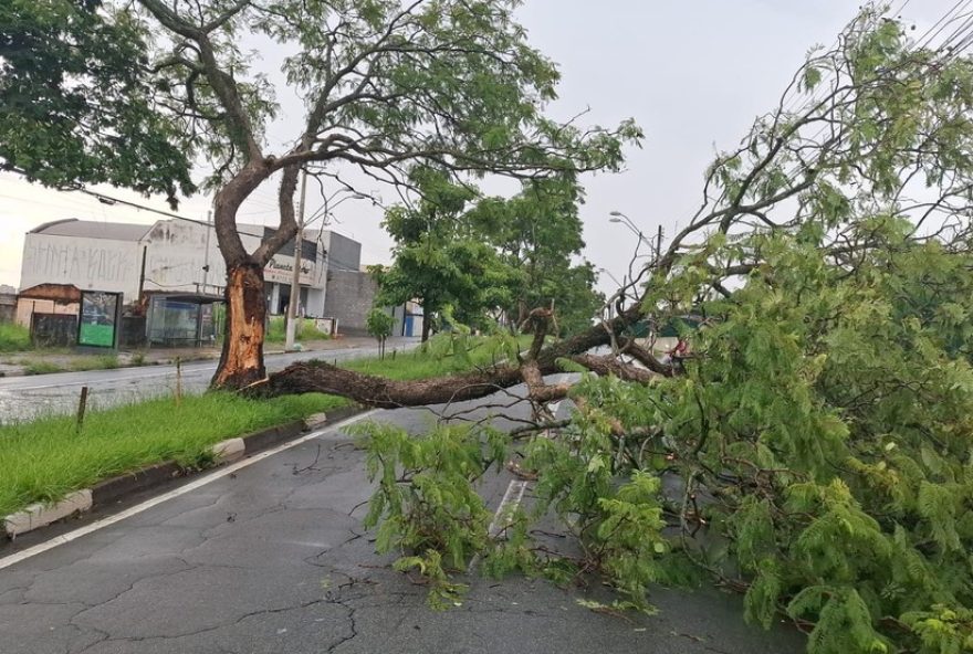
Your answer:
[[[531,180],[511,199],[478,199],[474,188],[432,169],[414,179],[419,201],[386,215],[397,245],[379,273],[378,302],[418,298],[430,313],[450,307],[478,326],[498,314],[521,325],[530,310],[554,304],[562,334],[590,326],[601,297],[592,265],[572,263],[584,247],[574,180]]]

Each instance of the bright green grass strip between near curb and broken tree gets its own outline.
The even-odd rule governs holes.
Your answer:
[[[55,502],[101,479],[161,461],[205,465],[210,445],[347,402],[322,394],[248,400],[227,393],[171,398],[0,426],[0,516]]]

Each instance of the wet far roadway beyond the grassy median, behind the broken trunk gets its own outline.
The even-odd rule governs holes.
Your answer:
[[[405,347],[414,347],[407,345]],[[268,371],[282,370],[295,361],[324,359],[342,361],[378,356],[377,347],[356,347],[320,351],[269,355]],[[182,388],[202,392],[217,369],[217,361],[182,365]],[[30,420],[39,415],[76,410],[81,387],[90,389],[88,407],[104,409],[126,402],[171,393],[176,388],[175,366],[146,366],[86,372],[57,372],[32,377],[0,378],[0,422]]]

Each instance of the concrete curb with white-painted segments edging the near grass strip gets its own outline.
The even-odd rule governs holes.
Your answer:
[[[292,441],[304,432],[318,429],[325,423],[339,422],[365,411],[367,411],[366,408],[357,405],[342,407],[326,415],[318,413],[306,420],[295,420],[245,436],[220,441],[210,447],[213,462],[206,470],[238,461],[262,450],[269,450],[285,441]],[[98,482],[91,488],[75,491],[53,505],[32,504],[23,510],[0,518],[0,521],[3,523],[3,532],[10,540],[13,540],[21,534],[34,531],[93,508],[118,502],[126,495],[150,491],[176,477],[186,477],[198,472],[202,471],[182,467],[175,461],[157,463]]]

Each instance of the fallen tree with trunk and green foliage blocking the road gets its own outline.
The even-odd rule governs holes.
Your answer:
[[[969,32],[931,43],[867,7],[716,159],[700,210],[610,299],[618,317],[454,380],[526,383],[537,404],[567,393],[568,423],[538,415],[513,437],[360,428],[379,549],[405,551],[398,568],[426,574],[440,604],[460,601],[449,572],[473,556],[489,573],[599,572],[620,593],[601,610],[650,611],[651,583],[701,571],[745,593],[747,620],[788,618],[814,654],[973,646]],[[629,338],[690,313],[702,326],[679,371]],[[596,346],[610,355],[586,355]],[[598,375],[544,383],[558,366]],[[295,366],[270,386],[289,378],[338,393],[364,381]],[[458,387],[417,388],[358,399]],[[517,455],[536,505],[491,530],[474,483]],[[548,511],[577,550],[531,536]]]

